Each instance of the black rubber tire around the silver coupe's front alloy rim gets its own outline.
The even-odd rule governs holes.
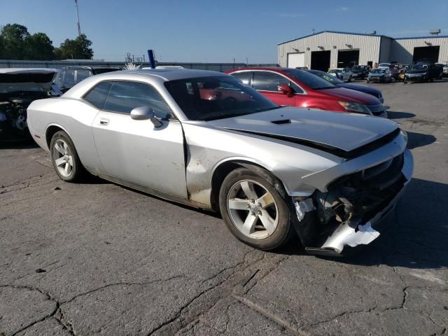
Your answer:
[[[257,186],[259,184],[260,186],[262,186],[262,188],[265,188],[265,190],[261,191],[261,193],[265,193],[265,191],[267,191],[270,193],[270,195],[272,195],[274,199],[274,205],[272,205],[271,207],[275,207],[274,209],[276,211],[276,216],[278,216],[278,221],[276,222],[275,230],[272,233],[268,234],[267,237],[249,237],[249,235],[244,234],[239,228],[237,228],[237,224],[232,219],[232,216],[234,216],[233,218],[235,218],[235,214],[237,214],[237,216],[241,216],[241,218],[246,218],[247,221],[249,214],[255,214],[255,210],[252,212],[252,209],[235,211],[235,209],[230,210],[228,207],[228,200],[231,197],[232,193],[235,193],[237,188],[240,186],[238,184],[240,181],[242,181],[243,183],[244,181],[249,181],[249,183],[253,182],[253,186]],[[262,190],[260,186],[258,186],[258,188],[259,190]],[[239,191],[239,193],[241,193],[241,190]],[[223,184],[221,185],[221,190],[219,193],[219,207],[221,210],[221,216],[223,216],[223,219],[225,221],[225,225],[227,225],[230,232],[232,232],[232,235],[250,246],[260,248],[260,250],[272,250],[274,248],[279,248],[283,244],[286,244],[286,242],[288,242],[292,237],[295,236],[293,223],[290,221],[290,209],[292,209],[292,207],[290,207],[290,204],[288,204],[287,197],[288,196],[283,188],[282,183],[275,179],[274,176],[269,174],[269,172],[265,171],[264,169],[260,169],[259,167],[254,167],[254,169],[238,168],[230,172],[230,174],[225,177]],[[249,203],[249,200],[247,201]],[[256,201],[255,203],[253,203],[254,207],[255,204]],[[258,203],[258,205],[260,205],[260,203]],[[250,207],[250,205],[248,205],[248,207]],[[233,211],[232,214],[230,211]],[[262,214],[264,215],[264,212]],[[258,217],[259,219],[255,219],[255,223],[258,223],[258,227],[261,226],[261,228],[259,228],[260,231],[255,230],[251,235],[256,235],[258,233],[263,234],[263,229],[265,227],[264,225],[262,225],[261,216],[262,215]],[[256,227],[257,225],[255,225],[255,228]],[[267,234],[267,230],[264,231],[266,232],[265,234]]]

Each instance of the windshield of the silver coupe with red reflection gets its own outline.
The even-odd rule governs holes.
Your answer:
[[[190,120],[244,116],[280,107],[231,76],[169,80],[165,87]]]

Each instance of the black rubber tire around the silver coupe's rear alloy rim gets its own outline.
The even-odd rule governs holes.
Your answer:
[[[62,155],[59,154],[59,152],[55,149],[55,144],[56,143],[59,144],[60,141],[63,141],[66,144],[68,148],[66,153],[69,154],[68,157],[71,158],[70,162],[72,163],[69,174],[67,174],[66,176],[62,174],[60,170],[61,167],[58,167],[56,163],[57,156]],[[59,176],[59,178],[62,179],[62,181],[77,182],[80,181],[80,179],[82,179],[85,169],[79,160],[75,145],[73,144],[73,141],[71,141],[69,134],[66,134],[66,132],[64,131],[58,131],[52,136],[50,141],[50,155],[53,168],[55,169],[57,176]]]

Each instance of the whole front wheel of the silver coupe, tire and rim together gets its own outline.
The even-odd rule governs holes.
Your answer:
[[[264,169],[238,168],[221,185],[219,207],[232,235],[260,250],[272,250],[295,235],[286,197],[280,181]]]

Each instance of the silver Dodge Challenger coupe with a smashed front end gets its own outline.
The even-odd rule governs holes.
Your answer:
[[[309,253],[369,244],[410,181],[407,134],[384,118],[277,106],[215,71],[118,71],[28,109],[60,179],[85,171],[221,212],[244,243]]]

